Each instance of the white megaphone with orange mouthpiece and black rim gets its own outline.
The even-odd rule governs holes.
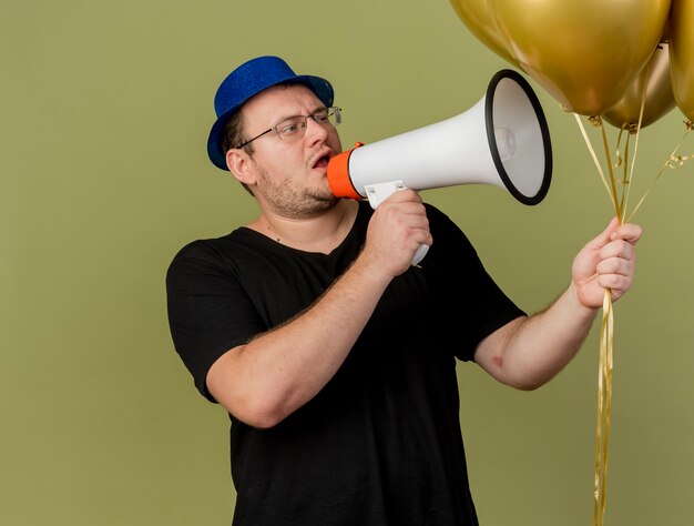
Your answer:
[[[523,204],[547,195],[552,146],[544,112],[528,81],[513,70],[493,75],[469,110],[371,144],[357,142],[328,163],[338,198],[368,199],[376,209],[397,190],[457,184],[504,188]],[[415,260],[421,260],[428,246]],[[417,264],[418,261],[412,261]]]

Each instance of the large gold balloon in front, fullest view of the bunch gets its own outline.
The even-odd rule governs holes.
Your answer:
[[[643,70],[671,0],[489,0],[522,69],[567,110],[601,115]]]

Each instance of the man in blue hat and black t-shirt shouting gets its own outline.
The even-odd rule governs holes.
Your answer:
[[[632,284],[641,229],[610,225],[527,316],[465,234],[411,190],[337,200],[330,83],[277,57],[215,97],[212,162],[261,214],[185,246],[167,274],[176,351],[232,421],[235,525],[477,525],[456,362],[533,390],[580,348],[605,287]],[[420,244],[430,245],[420,267]]]

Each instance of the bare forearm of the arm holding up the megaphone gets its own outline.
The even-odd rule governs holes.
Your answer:
[[[392,276],[361,254],[307,311],[223,355],[207,385],[237,418],[269,427],[333,377]]]

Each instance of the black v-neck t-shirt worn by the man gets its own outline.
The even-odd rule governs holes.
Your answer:
[[[177,353],[195,385],[211,365],[310,306],[359,253],[372,210],[330,254],[253,230],[195,241],[167,273]],[[427,204],[435,243],[392,280],[343,366],[269,429],[231,416],[234,525],[477,525],[456,358],[520,316],[465,234]],[[290,352],[290,351],[288,351]],[[307,374],[310,374],[307,371]]]

